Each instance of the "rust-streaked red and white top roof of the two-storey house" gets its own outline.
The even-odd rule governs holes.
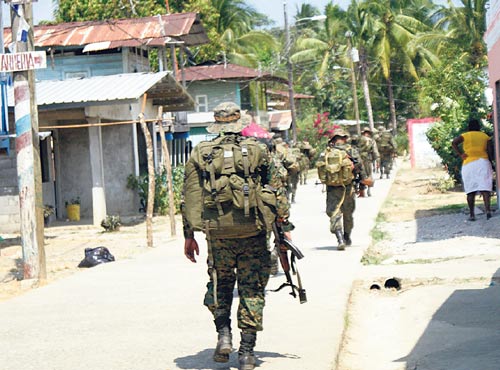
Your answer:
[[[5,44],[11,42],[11,29],[5,28]],[[35,46],[85,46],[110,42],[121,46],[162,46],[174,39],[186,46],[207,43],[208,37],[197,13],[176,13],[144,18],[69,22],[34,27]]]

